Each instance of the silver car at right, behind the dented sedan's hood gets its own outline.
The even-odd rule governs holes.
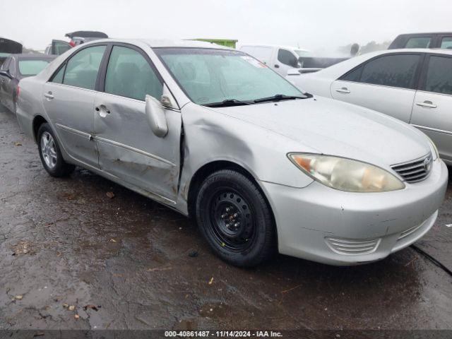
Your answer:
[[[452,164],[452,51],[391,49],[287,79],[309,93],[412,124],[432,138],[441,158]]]

